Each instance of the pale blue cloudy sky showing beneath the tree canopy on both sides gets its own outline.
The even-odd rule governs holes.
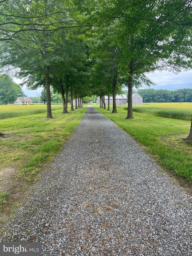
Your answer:
[[[150,80],[152,80],[153,83],[156,83],[155,86],[152,86],[151,88],[154,89],[167,89],[170,91],[183,89],[183,88],[190,88],[192,89],[192,70],[190,71],[182,71],[179,74],[173,74],[168,71],[156,71],[154,74],[147,74],[147,77],[149,77]],[[20,83],[21,80],[17,78],[13,78],[15,83]],[[143,86],[139,89],[145,89],[148,88],[147,86]],[[38,88],[35,91],[29,90],[26,88],[26,86],[22,87],[23,92],[28,97],[38,97],[38,95],[41,95],[41,91],[43,88]]]

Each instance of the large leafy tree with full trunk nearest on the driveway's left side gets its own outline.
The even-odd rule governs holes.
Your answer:
[[[6,2],[6,1],[5,1]],[[47,118],[52,118],[50,100],[50,72],[59,59],[62,38],[59,31],[74,26],[72,2],[60,0],[10,1],[1,7],[1,65],[13,65],[23,74],[41,72],[46,83]],[[74,13],[73,13],[74,14]],[[3,18],[2,18],[3,19]],[[6,20],[9,20],[7,23]],[[16,56],[16,57],[15,57]]]

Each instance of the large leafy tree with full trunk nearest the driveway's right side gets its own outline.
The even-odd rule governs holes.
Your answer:
[[[105,20],[113,24],[113,45],[120,76],[127,78],[128,115],[133,118],[134,77],[168,69],[179,72],[191,63],[191,3],[188,1],[112,1],[104,5]],[[173,12],[172,12],[173,10]],[[184,15],[185,14],[185,15]],[[102,17],[101,15],[101,17]],[[186,18],[187,17],[187,18]],[[178,26],[183,24],[183,26]],[[149,81],[149,80],[148,80]],[[137,83],[136,83],[137,84]]]

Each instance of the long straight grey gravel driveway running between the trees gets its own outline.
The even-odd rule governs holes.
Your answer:
[[[51,168],[1,242],[42,242],[42,255],[192,255],[191,196],[94,107]]]

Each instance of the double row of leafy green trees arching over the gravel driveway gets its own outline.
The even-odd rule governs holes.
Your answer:
[[[146,73],[191,68],[191,8],[189,0],[0,0],[1,67],[46,88],[47,118],[50,85],[67,113],[69,90],[115,99],[125,84],[132,119],[133,86],[152,84]]]

